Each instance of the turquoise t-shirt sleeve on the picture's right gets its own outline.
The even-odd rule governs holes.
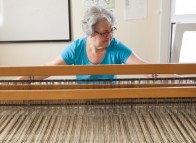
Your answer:
[[[119,60],[119,63],[126,63],[129,56],[132,54],[131,48],[123,44],[120,41],[116,42],[116,53]]]

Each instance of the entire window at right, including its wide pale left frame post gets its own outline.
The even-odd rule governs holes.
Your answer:
[[[196,0],[163,0],[161,63],[196,63]]]

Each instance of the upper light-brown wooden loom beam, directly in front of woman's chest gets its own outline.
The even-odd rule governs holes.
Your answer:
[[[196,74],[196,64],[0,67],[0,76]]]

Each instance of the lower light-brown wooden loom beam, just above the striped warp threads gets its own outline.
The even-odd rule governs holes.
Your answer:
[[[113,88],[63,90],[1,90],[0,100],[63,100],[111,98],[196,97],[196,88]]]

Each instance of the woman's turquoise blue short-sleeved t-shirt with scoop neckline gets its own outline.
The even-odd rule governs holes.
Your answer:
[[[67,46],[61,56],[67,65],[93,65],[86,54],[87,37],[73,41]],[[132,50],[119,40],[113,38],[106,49],[106,54],[100,64],[122,64],[131,55]],[[77,79],[114,79],[115,75],[78,75]]]

